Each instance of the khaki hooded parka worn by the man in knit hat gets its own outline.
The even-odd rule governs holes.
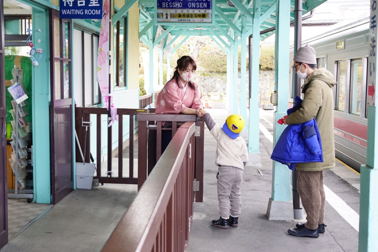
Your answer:
[[[302,124],[315,118],[323,148],[323,162],[297,163],[299,171],[318,172],[335,166],[333,137],[333,92],[335,78],[325,68],[316,69],[302,86],[302,108],[289,114],[287,124]]]

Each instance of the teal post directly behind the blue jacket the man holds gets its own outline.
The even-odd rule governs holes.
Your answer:
[[[286,1],[279,1],[277,4],[277,31],[275,43],[275,90],[278,94],[276,112],[274,112],[273,145],[276,144],[285,125],[280,125],[277,120],[286,115],[288,105],[289,83],[289,36],[290,33],[290,4]],[[273,161],[272,175],[272,196],[273,201],[290,202],[290,170],[286,165]]]

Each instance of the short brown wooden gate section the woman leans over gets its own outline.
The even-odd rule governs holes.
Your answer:
[[[154,109],[150,109],[150,112],[153,111]],[[174,137],[177,130],[181,128],[178,128],[178,124],[183,122],[196,124],[195,148],[192,153],[195,160],[194,178],[198,189],[195,192],[195,201],[203,202],[205,140],[203,119],[196,115],[139,113],[137,121],[139,124],[138,155],[145,157],[138,158],[138,189],[142,187],[147,175],[155,169],[155,164],[162,155],[162,130],[172,130],[172,137]],[[172,127],[162,127],[161,122],[172,123]],[[143,167],[147,167],[147,169],[142,169]]]

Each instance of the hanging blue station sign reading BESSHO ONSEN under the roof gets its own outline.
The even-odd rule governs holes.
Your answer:
[[[211,24],[213,0],[156,0],[157,23]]]

